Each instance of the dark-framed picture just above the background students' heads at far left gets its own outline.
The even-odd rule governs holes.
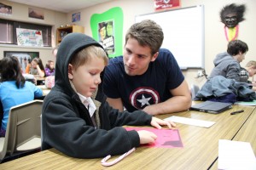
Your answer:
[[[3,51],[3,56],[15,56],[20,61],[22,71],[26,70],[26,65],[35,57],[39,57],[39,52],[26,52],[26,51]]]

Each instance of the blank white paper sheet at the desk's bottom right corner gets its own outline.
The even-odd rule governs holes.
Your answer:
[[[218,169],[255,170],[256,158],[248,142],[218,140]]]

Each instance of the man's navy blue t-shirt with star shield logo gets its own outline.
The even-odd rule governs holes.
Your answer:
[[[123,56],[110,59],[104,72],[103,90],[108,98],[121,98],[127,111],[137,111],[170,99],[170,90],[177,88],[183,80],[183,73],[172,53],[161,48],[158,57],[140,76],[125,73]]]

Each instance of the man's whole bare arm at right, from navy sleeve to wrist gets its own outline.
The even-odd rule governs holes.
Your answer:
[[[170,90],[172,98],[155,105],[148,105],[143,109],[149,115],[160,115],[178,111],[187,111],[191,106],[191,94],[188,83],[184,80],[177,88]]]

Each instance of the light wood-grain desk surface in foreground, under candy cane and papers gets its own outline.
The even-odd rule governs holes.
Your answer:
[[[130,156],[125,157],[109,169],[208,169],[216,166],[218,159],[218,139],[237,139],[253,141],[255,153],[255,124],[256,114],[252,113],[254,106],[234,105],[229,111],[218,115],[183,111],[180,113],[160,115],[184,116],[200,120],[216,122],[212,127],[195,127],[177,123],[177,128],[183,141],[183,148],[148,148],[139,147]],[[243,109],[244,112],[230,116],[231,111]],[[255,112],[255,111],[254,111]],[[247,127],[245,127],[247,126]],[[246,129],[245,128],[249,128]],[[248,134],[244,134],[247,132]],[[254,133],[254,138],[251,136]],[[252,143],[251,143],[252,144]],[[116,158],[117,156],[113,156]],[[102,159],[76,159],[61,154],[55,149],[44,150],[30,156],[0,164],[0,169],[102,169]],[[107,168],[107,167],[106,167]],[[211,168],[213,169],[213,168]]]

